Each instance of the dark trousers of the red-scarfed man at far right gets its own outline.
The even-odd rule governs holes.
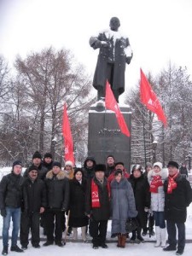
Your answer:
[[[184,223],[175,223],[170,220],[167,220],[166,221],[166,229],[167,229],[167,233],[168,233],[169,244],[172,247],[177,246],[178,250],[183,251],[184,246],[185,246],[185,224]],[[178,241],[177,241],[176,235],[178,236]]]

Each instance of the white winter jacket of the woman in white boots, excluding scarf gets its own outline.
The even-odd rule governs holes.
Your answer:
[[[164,183],[166,180],[166,177],[168,176],[167,170],[163,169],[162,171],[155,173],[154,170],[151,170],[148,172],[148,183],[151,184],[153,180],[153,176],[160,175],[161,180]],[[164,212],[164,206],[165,206],[165,193],[163,186],[160,186],[158,188],[158,193],[151,192],[151,210],[154,212]]]

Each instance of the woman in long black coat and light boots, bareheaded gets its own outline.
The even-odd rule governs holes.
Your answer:
[[[78,228],[81,227],[81,235],[84,242],[86,239],[86,226],[88,217],[85,215],[85,191],[87,180],[84,178],[84,172],[81,168],[76,168],[74,177],[70,180],[70,202],[69,202],[69,223],[73,227],[73,239],[78,239]]]

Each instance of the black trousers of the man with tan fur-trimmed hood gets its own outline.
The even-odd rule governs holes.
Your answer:
[[[49,209],[45,214],[47,241],[61,241],[64,214],[60,209]],[[55,233],[55,239],[54,239]]]

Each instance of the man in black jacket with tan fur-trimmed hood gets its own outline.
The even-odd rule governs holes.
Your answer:
[[[49,171],[44,180],[47,189],[47,209],[45,212],[45,224],[47,241],[44,246],[55,244],[63,247],[62,224],[64,212],[67,211],[69,201],[69,181],[61,170],[61,163],[54,161],[52,170]],[[55,230],[55,239],[54,239]]]

